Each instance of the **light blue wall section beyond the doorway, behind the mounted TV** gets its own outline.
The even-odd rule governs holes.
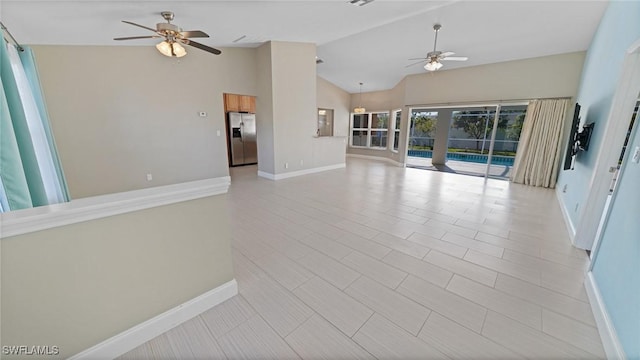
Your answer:
[[[579,6],[579,3],[576,3]],[[640,38],[640,1],[611,1],[593,37],[582,69],[577,101],[582,122],[595,122],[589,151],[577,155],[575,169],[560,171],[558,187],[573,228],[580,226],[582,207],[589,194],[598,151],[607,127],[611,101],[622,71],[626,50]]]

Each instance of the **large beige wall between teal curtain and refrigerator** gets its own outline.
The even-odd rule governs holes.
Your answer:
[[[257,93],[254,49],[34,49],[72,198],[228,175],[222,93]]]

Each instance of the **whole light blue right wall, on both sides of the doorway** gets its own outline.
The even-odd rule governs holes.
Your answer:
[[[580,204],[590,191],[597,154],[606,146],[602,144],[604,130],[626,50],[638,39],[640,1],[612,1],[587,52],[577,95],[583,122],[596,123],[590,148],[579,154],[575,170],[562,171],[558,179],[559,187],[568,185],[560,202],[575,227],[580,226]],[[636,121],[627,155],[640,146],[639,125]],[[623,175],[592,271],[627,358],[639,359],[640,164],[630,161],[623,164]]]

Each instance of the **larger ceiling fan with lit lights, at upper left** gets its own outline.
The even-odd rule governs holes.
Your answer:
[[[195,48],[210,52],[215,55],[220,55],[222,53],[222,51],[218,49],[215,49],[210,46],[200,44],[198,42],[191,40],[190,38],[206,38],[206,37],[209,37],[209,35],[207,35],[207,33],[200,30],[182,31],[180,27],[171,23],[174,17],[173,12],[163,11],[160,13],[160,15],[162,15],[162,17],[167,22],[156,24],[155,29],[146,27],[144,25],[139,25],[131,21],[122,20],[122,22],[125,24],[129,24],[129,25],[133,25],[133,26],[137,26],[143,29],[153,31],[155,35],[119,37],[119,38],[114,38],[113,40],[135,40],[135,39],[154,39],[154,38],[164,39],[162,42],[156,45],[156,48],[163,55],[170,56],[170,57],[183,57],[187,54],[187,51],[180,44],[193,46]]]

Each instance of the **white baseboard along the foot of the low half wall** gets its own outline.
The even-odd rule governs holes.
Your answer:
[[[115,359],[237,294],[238,283],[233,279],[69,359]]]

